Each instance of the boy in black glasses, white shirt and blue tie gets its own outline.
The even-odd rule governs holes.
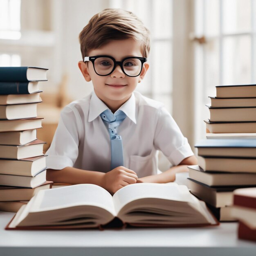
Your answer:
[[[47,150],[47,180],[91,183],[111,194],[138,182],[166,183],[197,160],[162,103],[134,91],[149,64],[149,31],[131,12],[105,9],[79,35],[94,91],[61,112]],[[159,85],[161,86],[161,85]],[[175,165],[157,174],[157,150]]]

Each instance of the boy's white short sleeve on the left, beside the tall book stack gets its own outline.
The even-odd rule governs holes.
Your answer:
[[[78,157],[79,115],[76,108],[66,106],[61,111],[58,127],[52,144],[45,153],[46,165],[49,169],[61,170],[73,166]]]

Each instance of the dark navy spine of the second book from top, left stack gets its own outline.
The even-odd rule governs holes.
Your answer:
[[[0,94],[29,94],[29,82],[0,82]]]

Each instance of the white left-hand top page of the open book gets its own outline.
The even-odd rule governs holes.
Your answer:
[[[94,184],[77,184],[39,191],[31,210],[48,211],[80,205],[101,207],[115,216],[111,194]]]

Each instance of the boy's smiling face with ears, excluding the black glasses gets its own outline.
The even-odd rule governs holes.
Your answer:
[[[115,58],[116,61],[121,61],[128,56],[143,57],[141,54],[140,45],[133,39],[112,40],[107,45],[99,49],[91,50],[88,56],[108,55]],[[91,61],[79,61],[79,68],[83,73],[86,81],[93,83],[96,95],[111,109],[119,108],[126,102],[132,92],[137,87],[137,84],[144,78],[148,70],[148,63],[144,63],[141,74],[131,77],[124,74],[119,65],[108,76],[99,76],[96,74]],[[119,86],[111,86],[119,85]],[[112,110],[111,109],[111,110]]]

